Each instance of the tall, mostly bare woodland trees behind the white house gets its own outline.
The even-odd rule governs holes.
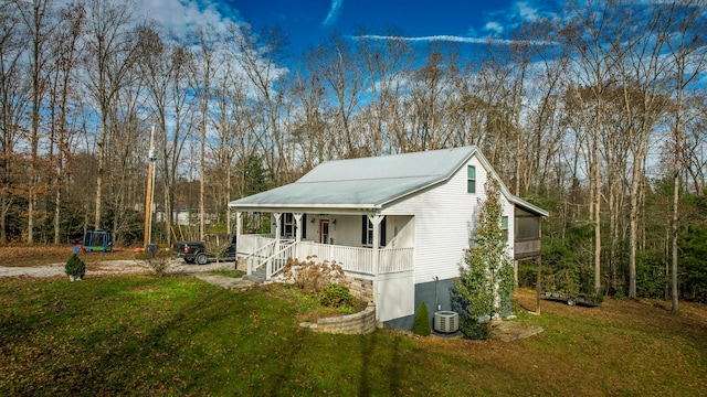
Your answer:
[[[545,265],[566,285],[664,296],[679,277],[705,299],[706,22],[704,1],[569,2],[511,40],[359,28],[291,54],[276,26],[167,32],[124,1],[6,1],[0,242],[139,240],[150,126],[156,204],[200,235],[326,160],[475,144],[551,211]]]

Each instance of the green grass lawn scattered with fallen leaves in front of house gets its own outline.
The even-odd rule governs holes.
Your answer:
[[[188,277],[0,286],[2,396],[707,394],[704,305],[544,302],[542,315],[518,321],[546,331],[504,343],[317,334],[277,288],[235,292]]]

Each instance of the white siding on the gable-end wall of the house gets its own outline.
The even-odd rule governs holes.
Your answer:
[[[476,193],[466,192],[466,167],[476,167]],[[458,277],[469,230],[478,217],[478,201],[485,198],[487,170],[473,157],[445,183],[423,191],[383,211],[384,215],[414,214],[414,283],[430,282],[435,277]],[[513,204],[505,197],[504,215],[508,216],[513,238]],[[513,257],[513,243],[509,244]]]

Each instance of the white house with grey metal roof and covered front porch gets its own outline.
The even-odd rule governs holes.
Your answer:
[[[295,183],[233,201],[239,255],[249,275],[261,269],[266,279],[287,258],[336,261],[370,286],[379,322],[411,330],[421,302],[431,314],[451,310],[488,178],[502,187],[510,256],[539,256],[548,213],[510,194],[476,147],[329,161]],[[273,233],[243,235],[244,213],[271,213]]]

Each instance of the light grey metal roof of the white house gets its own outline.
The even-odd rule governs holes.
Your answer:
[[[377,210],[387,203],[447,180],[466,164],[475,152],[477,152],[476,147],[463,147],[327,161],[294,183],[235,200],[229,206],[243,211],[263,212],[285,208]],[[490,165],[483,155],[479,155],[479,161],[490,170]],[[505,186],[503,189],[504,194],[508,196],[510,194],[508,190]],[[520,200],[511,195],[510,197]],[[511,202],[515,201],[511,200]],[[541,212],[539,215],[547,216],[547,212],[527,204],[530,206],[528,210],[539,210]]]

